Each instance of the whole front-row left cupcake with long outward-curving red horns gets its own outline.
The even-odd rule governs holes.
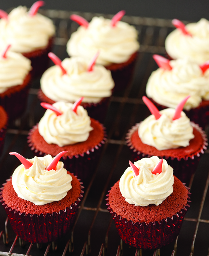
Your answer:
[[[50,155],[26,160],[3,184],[1,203],[19,238],[48,243],[63,237],[75,221],[80,198],[79,180]],[[62,153],[63,154],[63,153]]]

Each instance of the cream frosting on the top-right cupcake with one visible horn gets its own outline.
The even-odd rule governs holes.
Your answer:
[[[174,59],[187,58],[203,64],[209,60],[209,21],[202,18],[197,23],[186,25],[186,28],[192,36],[175,29],[166,38],[166,51]]]

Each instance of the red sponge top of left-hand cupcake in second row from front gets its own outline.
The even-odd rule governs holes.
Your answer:
[[[75,156],[79,154],[83,154],[90,151],[92,148],[94,148],[96,145],[98,145],[103,139],[104,139],[104,130],[103,126],[96,120],[91,118],[91,126],[94,128],[89,133],[89,137],[86,141],[79,142],[73,145],[66,145],[63,147],[60,147],[56,144],[48,144],[44,138],[39,134],[38,129],[36,128],[31,136],[30,140],[33,144],[33,147],[41,152],[44,152],[45,154],[49,154],[52,157],[55,157],[57,154],[59,154],[62,151],[68,151],[65,156]]]

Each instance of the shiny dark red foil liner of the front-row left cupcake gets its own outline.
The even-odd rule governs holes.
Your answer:
[[[81,185],[81,189],[83,188]],[[3,187],[0,189],[3,190]],[[1,191],[0,194],[2,193]],[[70,207],[66,207],[65,210],[61,210],[59,213],[47,213],[46,215],[25,214],[11,209],[4,202],[2,195],[0,195],[0,198],[2,198],[0,202],[17,236],[30,243],[48,243],[63,237],[73,226],[83,193],[84,191],[81,190],[78,200]]]

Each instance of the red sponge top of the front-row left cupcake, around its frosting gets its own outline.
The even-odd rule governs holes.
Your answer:
[[[65,210],[66,207],[70,207],[72,204],[74,204],[81,194],[81,185],[79,180],[70,172],[68,172],[68,174],[70,174],[73,178],[71,181],[72,188],[68,191],[67,196],[60,201],[48,203],[45,205],[35,205],[30,201],[21,199],[14,191],[12,180],[9,180],[4,186],[2,194],[3,200],[8,205],[8,207],[11,207],[11,209],[26,214],[39,215],[42,213],[45,215],[46,213],[59,213],[60,210]]]

